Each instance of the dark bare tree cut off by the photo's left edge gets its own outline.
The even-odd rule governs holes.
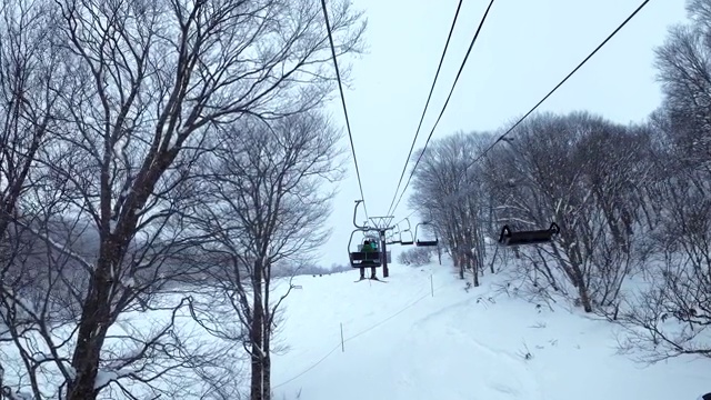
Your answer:
[[[22,212],[22,196],[33,184],[31,170],[49,141],[58,119],[57,90],[64,77],[61,52],[48,39],[52,34],[51,7],[21,0],[0,4],[0,397],[13,398],[10,372],[14,370],[2,347],[13,338],[8,331],[8,291],[26,291],[36,270],[17,267],[17,257],[31,252],[13,223]],[[41,251],[41,250],[40,250]],[[18,316],[24,320],[26,316]],[[22,328],[21,328],[22,329]]]

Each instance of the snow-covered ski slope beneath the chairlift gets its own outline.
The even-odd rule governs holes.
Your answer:
[[[388,283],[357,278],[294,279],[301,289],[278,328],[288,351],[273,357],[276,399],[695,400],[711,391],[710,360],[634,363],[615,354],[611,323],[509,298],[491,276],[469,291],[445,266],[391,266]]]

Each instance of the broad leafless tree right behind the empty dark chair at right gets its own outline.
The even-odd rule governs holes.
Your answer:
[[[644,262],[634,231],[650,171],[647,148],[643,131],[587,113],[537,116],[512,142],[515,189],[502,211],[518,229],[561,226],[558,240],[522,254],[554,290],[569,292],[562,284],[570,282],[588,312],[614,308],[625,277]]]

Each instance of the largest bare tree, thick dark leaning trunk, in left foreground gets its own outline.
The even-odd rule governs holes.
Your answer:
[[[22,193],[12,188],[23,182],[12,180],[11,190],[3,188],[2,214],[7,210],[26,217],[53,211],[68,216],[73,229],[91,223],[98,250],[83,257],[71,240],[58,238],[42,219],[34,223],[13,217],[49,249],[51,253],[43,257],[51,261],[56,281],[69,290],[67,296],[78,301],[79,312],[64,327],[49,327],[44,308],[34,312],[17,293],[3,290],[6,310],[12,310],[3,314],[11,329],[18,327],[18,316],[29,316],[39,330],[30,344],[24,344],[30,333],[21,330],[14,340],[31,379],[43,380],[50,364],[61,377],[50,379],[59,388],[53,393],[32,384],[38,398],[96,399],[107,388],[126,397],[150,392],[182,397],[190,382],[171,381],[171,373],[207,368],[214,358],[204,352],[196,357],[200,349],[186,344],[189,338],[178,332],[174,321],[190,297],[167,302],[154,294],[167,289],[176,276],[197,272],[183,268],[176,273],[179,266],[193,263],[196,249],[206,239],[187,231],[182,223],[187,218],[182,210],[199,202],[202,194],[193,167],[212,150],[216,141],[211,136],[220,127],[246,116],[273,119],[300,113],[328,96],[332,89],[330,52],[321,13],[309,0],[56,0],[34,4],[40,6],[52,8],[48,20],[28,24],[32,13],[21,12],[30,7],[28,2],[3,3],[9,10],[6,16],[28,16],[22,23],[9,24],[11,29],[47,27],[51,32],[19,32],[24,36],[18,36],[17,42],[3,41],[2,46],[9,46],[4,49],[49,62],[56,59],[44,58],[39,50],[51,47],[62,58],[44,69],[33,67],[30,72],[39,71],[33,79],[3,74],[6,92],[23,101],[23,108],[8,108],[6,116],[17,122],[7,127],[24,123],[31,128],[14,129],[23,136],[7,136],[10,144],[2,147],[8,149],[3,168],[13,178],[23,177],[29,168],[30,178],[21,179],[30,179],[32,193],[18,200]],[[332,29],[340,41],[339,53],[357,50],[363,31],[360,17],[347,3],[334,12]],[[20,38],[26,37],[31,40],[23,49],[26,42]],[[40,79],[47,80],[42,71],[44,76],[62,72],[61,86],[42,84]],[[22,98],[29,92],[17,86],[26,81],[39,93],[30,100]],[[50,106],[60,111],[61,123],[52,127],[52,141],[43,143],[41,129],[47,123],[42,121],[48,120]],[[24,137],[30,133],[32,137]],[[37,167],[31,163],[34,158]],[[4,167],[7,162],[12,169]],[[47,203],[48,199],[52,201]],[[18,201],[20,206],[14,204]],[[79,284],[69,283],[69,270],[81,271]],[[18,308],[22,312],[16,312]],[[128,332],[132,328],[120,324],[122,314],[136,309],[160,309],[168,317],[154,331],[133,334]],[[41,348],[41,356],[32,348]],[[154,362],[147,362],[149,359]],[[197,360],[203,363],[194,364]]]

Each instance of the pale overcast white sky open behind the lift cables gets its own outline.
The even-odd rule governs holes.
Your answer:
[[[368,51],[352,60],[346,102],[365,206],[371,217],[382,216],[394,196],[458,0],[352,1],[365,11],[369,21]],[[509,127],[640,2],[497,0],[432,140],[460,130]],[[432,129],[488,4],[489,0],[469,0],[462,6],[415,150]],[[653,49],[663,43],[669,26],[684,20],[684,1],[651,1],[539,110],[588,110],[621,123],[643,120],[661,101]],[[330,110],[333,121],[346,129],[340,97]],[[349,146],[347,134],[343,146]],[[350,152],[350,147],[347,149]],[[360,199],[356,169],[352,159],[349,161],[349,177],[333,199],[333,234],[322,249],[326,267],[348,263],[353,204]],[[408,176],[409,171],[403,184]],[[408,193],[394,221],[411,212],[407,198]],[[359,221],[362,219],[361,214]],[[414,228],[417,214],[410,220]],[[393,246],[393,261],[399,249]]]

